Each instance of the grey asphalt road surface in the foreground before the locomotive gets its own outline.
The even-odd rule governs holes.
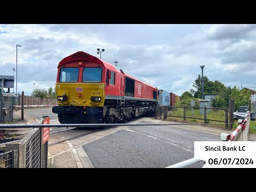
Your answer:
[[[152,123],[142,121],[140,123]],[[194,141],[219,135],[170,125],[129,126],[83,145],[94,167],[167,167],[194,157]],[[203,162],[189,167],[202,167]]]

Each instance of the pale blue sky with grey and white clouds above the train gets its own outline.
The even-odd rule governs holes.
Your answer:
[[[1,24],[0,75],[13,75],[18,44],[18,92],[26,95],[34,83],[54,87],[63,58],[77,51],[99,57],[97,48],[105,49],[103,60],[178,95],[193,88],[200,65],[211,81],[256,86],[255,40],[256,25]]]

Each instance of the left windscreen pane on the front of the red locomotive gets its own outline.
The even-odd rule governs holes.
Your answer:
[[[77,82],[78,80],[77,67],[62,67],[60,69],[60,82]]]

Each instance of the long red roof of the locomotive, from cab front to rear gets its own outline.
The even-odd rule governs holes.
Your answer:
[[[63,66],[64,64],[66,63],[69,63],[69,62],[72,62],[74,60],[77,60],[77,61],[85,61],[85,62],[95,62],[95,63],[99,63],[100,65],[103,65],[105,66],[107,69],[110,69],[112,71],[120,71],[122,69],[119,69],[117,68],[116,66],[112,65],[111,63],[107,62],[107,61],[104,61],[102,59],[99,59],[89,53],[85,53],[83,51],[78,51],[74,54],[71,54],[69,55],[68,57],[62,59],[60,62],[59,62],[59,65],[58,65],[58,68]],[[136,77],[134,75],[131,75],[130,73],[127,73],[126,71],[122,70],[123,73],[125,74],[125,76],[127,77],[130,77],[138,82],[141,82],[141,83],[144,83],[146,85],[149,85],[151,87],[154,87],[156,88],[154,85],[151,85],[150,83],[146,82],[145,80],[139,78],[139,77]],[[157,88],[156,88],[157,89]]]

